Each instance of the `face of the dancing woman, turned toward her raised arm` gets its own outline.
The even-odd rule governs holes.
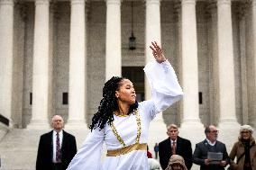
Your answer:
[[[133,83],[129,79],[123,79],[120,82],[119,89],[115,91],[115,97],[123,103],[135,103],[136,94]]]

